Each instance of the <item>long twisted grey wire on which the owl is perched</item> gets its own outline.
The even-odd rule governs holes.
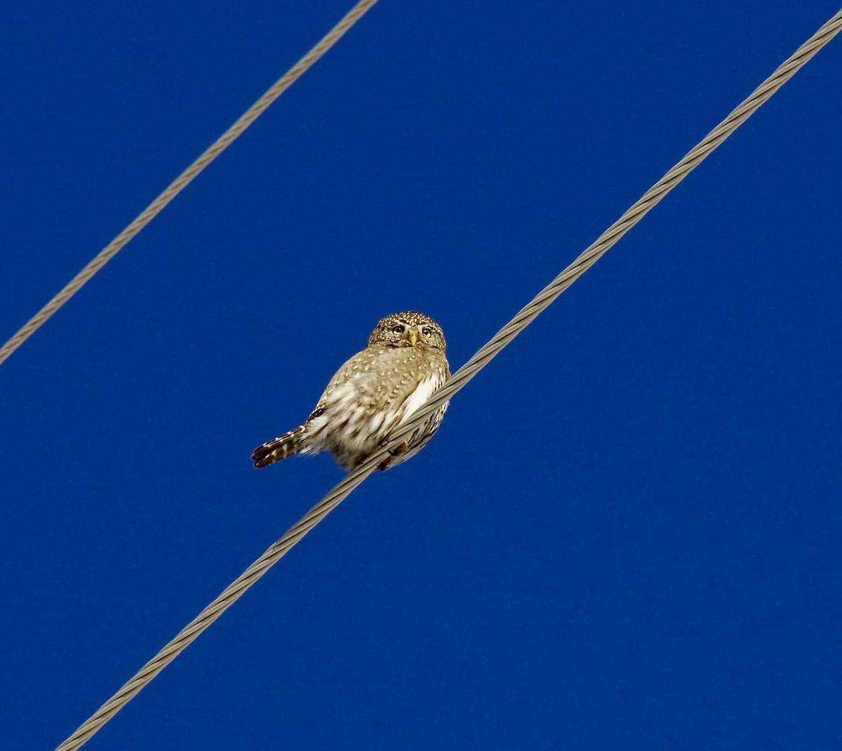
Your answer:
[[[313,506],[296,525],[290,527],[285,535],[269,547],[257,561],[248,567],[229,587],[227,587],[205,610],[202,610],[188,626],[185,626],[178,636],[168,643],[166,647],[157,653],[146,663],[137,674],[126,683],[111,699],[109,699],[99,710],[73,735],[67,739],[57,751],[70,751],[78,748],[90,738],[94,732],[99,730],[105,722],[120,711],[131,698],[136,695],[150,680],[152,680],[168,663],[176,658],[179,653],[187,647],[190,642],[200,635],[202,631],[210,626],[213,621],[222,614],[232,603],[242,595],[246,589],[252,586],[258,578],[262,577],[274,563],[284,557],[287,551],[307,532],[312,530],[325,516],[327,516],[338,504],[365,480],[380,462],[386,458],[390,450],[393,450],[402,442],[402,439],[418,427],[424,421],[426,415],[433,412],[440,406],[441,402],[449,399],[456,391],[463,388],[473,376],[477,375],[488,362],[495,357],[501,349],[517,336],[529,323],[547,306],[562,294],[579,276],[584,274],[597,260],[614,245],[632,226],[652,209],[663,196],[669,193],[675,185],[685,178],[690,170],[698,166],[701,161],[710,154],[727,136],[730,136],[739,125],[743,123],[754,110],[758,109],[766,99],[781,88],[783,83],[804,65],[816,52],[826,45],[842,28],[842,9],[832,19],[818,29],[807,42],[787,59],[769,78],[767,78],[754,92],[740,104],[737,109],[727,116],[722,123],[705,136],[698,146],[689,152],[674,168],[670,169],[663,178],[658,180],[652,188],[643,194],[642,198],[626,211],[614,224],[612,224],[600,237],[584,250],[584,252],[573,261],[572,264],[558,274],[529,305],[525,306],[518,314],[507,323],[504,328],[492,338],[488,344],[480,349],[471,360],[456,371],[445,386],[437,391],[429,401],[413,413],[413,418],[401,429],[397,430],[392,439],[384,445],[382,450],[372,457],[365,464],[357,467],[344,477],[342,482],[328,493],[322,500]]]

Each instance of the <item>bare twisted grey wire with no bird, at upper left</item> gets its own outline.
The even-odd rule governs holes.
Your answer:
[[[18,349],[21,344],[24,344],[26,339],[35,333],[38,328],[44,325],[53,313],[70,300],[70,298],[80,289],[82,289],[83,285],[91,279],[93,274],[96,274],[99,269],[102,269],[102,267],[111,260],[111,258],[114,258],[120,249],[123,248],[132,237],[135,237],[135,235],[140,232],[143,227],[147,226],[147,224],[149,224],[149,222],[152,221],[152,219],[154,219],[161,210],[163,210],[164,206],[166,206],[171,200],[173,200],[173,198],[175,198],[176,195],[187,187],[193,178],[205,169],[210,162],[213,162],[216,157],[224,152],[228,146],[231,146],[233,141],[242,134],[243,130],[246,130],[246,128],[248,128],[254,120],[257,120],[260,115],[263,115],[264,111],[269,108],[269,104],[272,104],[275,99],[278,99],[278,97],[286,91],[286,89],[290,88],[290,86],[295,83],[304,72],[312,67],[313,63],[322,57],[325,52],[333,47],[340,37],[342,37],[344,33],[348,31],[348,29],[350,29],[351,26],[353,26],[354,23],[356,23],[356,21],[359,20],[360,17],[376,2],[377,0],[360,0],[359,3],[354,5],[354,8],[349,10],[344,19],[339,21],[333,29],[330,29],[328,34],[325,35],[311,51],[307,52],[307,54],[303,56],[301,60],[296,62],[289,71],[285,72],[283,76],[273,83],[272,86],[267,89],[266,93],[264,93],[260,99],[258,99],[251,107],[248,108],[248,110],[246,110],[245,113],[243,113],[242,117],[240,117],[237,122],[235,122],[230,128],[228,128],[228,130],[217,138],[216,141],[214,141],[207,150],[198,159],[196,159],[195,162],[193,162],[187,169],[184,170],[183,173],[179,175],[179,177],[175,178],[173,182],[168,185],[168,188],[165,189],[155,200],[153,200],[146,209],[142,210],[136,219],[132,221],[131,224],[123,230],[123,232],[120,232],[114,240],[109,242],[109,244],[106,245],[105,248],[103,248],[87,266],[85,266],[84,269],[74,276],[72,280],[67,283],[65,288],[58,293],[58,295],[53,297],[53,299],[42,307],[39,312],[35,313],[35,316],[30,318],[18,333],[10,338],[6,344],[3,344],[3,347],[0,348],[0,364],[7,360],[8,356],[12,354],[15,349]]]

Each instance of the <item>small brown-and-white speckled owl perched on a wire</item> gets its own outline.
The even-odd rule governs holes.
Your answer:
[[[252,454],[254,466],[328,451],[351,471],[375,454],[450,377],[445,349],[441,327],[423,313],[381,318],[365,349],[331,378],[306,423],[258,446]],[[417,454],[439,428],[447,404],[430,413],[377,469]]]

